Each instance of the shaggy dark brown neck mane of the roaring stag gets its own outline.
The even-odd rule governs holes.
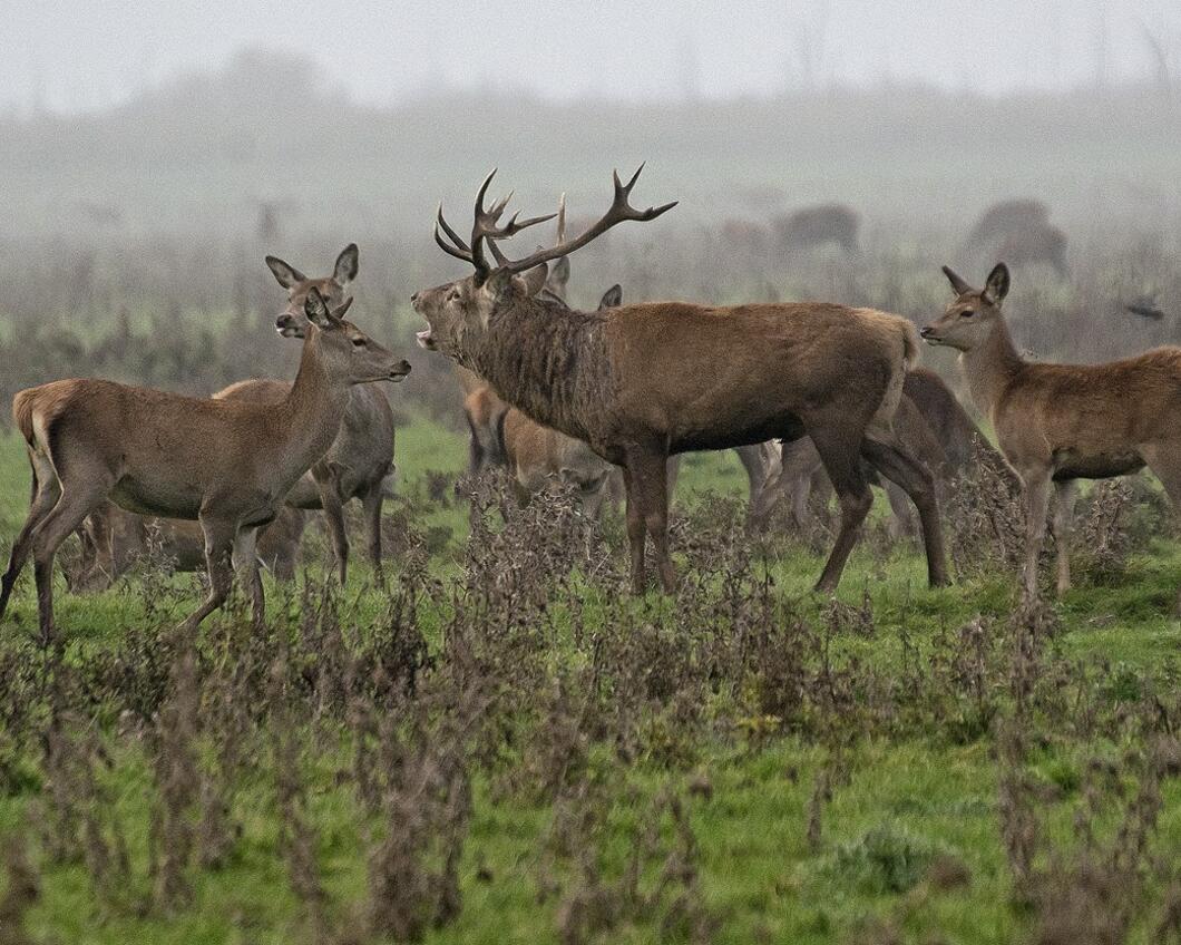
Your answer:
[[[568,436],[589,439],[588,424],[612,397],[607,317],[521,298],[495,312],[472,361],[509,404]]]

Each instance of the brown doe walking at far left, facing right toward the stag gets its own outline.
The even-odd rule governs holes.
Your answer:
[[[33,496],[0,581],[0,617],[30,554],[40,631],[53,630],[53,558],[107,498],[145,515],[196,519],[205,536],[210,592],[185,620],[195,630],[224,604],[229,559],[248,576],[263,619],[257,529],[332,445],[354,384],[402,380],[410,365],[332,311],[313,287],[299,373],[280,403],[184,397],[110,380],[56,380],[20,391],[13,419],[28,449]]]

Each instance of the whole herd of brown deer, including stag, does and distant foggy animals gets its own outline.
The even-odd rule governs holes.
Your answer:
[[[820,592],[833,592],[841,579],[872,484],[886,488],[896,533],[914,530],[912,507],[918,513],[935,587],[950,582],[940,484],[980,464],[1007,476],[1024,496],[1029,599],[1038,593],[1051,484],[1059,593],[1070,586],[1077,480],[1148,467],[1170,501],[1181,502],[1181,430],[1173,426],[1181,413],[1181,348],[1085,366],[1027,360],[1005,322],[1004,263],[983,288],[945,267],[954,299],[921,332],[900,315],[827,302],[625,304],[618,285],[598,309],[579,311],[566,301],[569,256],[616,224],[655,220],[676,203],[637,209],[631,195],[640,171],[626,182],[616,174],[607,211],[570,236],[565,198],[557,214],[526,220],[505,219],[508,197],[489,206],[494,175],[478,189],[466,236],[439,207],[435,240],[470,269],[411,296],[426,322],[417,340],[455,364],[474,471],[507,467],[522,501],[561,480],[588,516],[622,493],[637,593],[647,586],[648,543],[661,587],[676,586],[668,501],[678,457],[689,451],[738,452],[756,527],[779,496],[802,523],[809,495],[835,491],[836,537]],[[1064,269],[1064,241],[1040,204],[994,209],[974,241],[994,243],[1013,230],[1013,220],[1024,221],[1025,242],[1010,241],[1011,252],[1024,259],[1040,253]],[[831,230],[837,235],[830,239],[854,252],[856,217],[843,211],[836,219],[831,210],[794,217],[790,235],[810,240]],[[507,255],[502,243],[554,216],[552,246]],[[32,498],[0,582],[0,615],[32,558],[40,633],[51,639],[61,543],[79,535],[89,571],[110,581],[151,530],[181,566],[208,573],[208,597],[182,627],[195,630],[224,604],[235,569],[261,621],[260,562],[276,578],[291,576],[309,509],[324,511],[337,574],[347,580],[342,507],[353,498],[381,581],[394,423],[379,383],[400,382],[410,364],[346,319],[358,272],[354,245],[325,278],[308,278],[274,256],[266,262],[287,292],[276,331],[302,345],[294,382],[243,380],[200,398],[67,379],[15,396]],[[959,352],[967,391],[996,432],[999,454],[939,376],[918,366],[920,335]]]

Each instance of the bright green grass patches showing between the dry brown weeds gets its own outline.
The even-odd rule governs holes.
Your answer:
[[[398,431],[400,487],[423,488],[431,471],[456,472],[465,463],[463,439],[425,421]],[[686,457],[678,495],[703,490],[740,496],[745,478],[731,455]],[[12,535],[27,496],[27,469],[13,436],[0,441],[0,527]],[[879,503],[885,506],[885,503]],[[432,567],[444,580],[455,574],[455,553],[466,530],[462,503],[432,511],[430,523],[452,533]],[[826,606],[809,594],[820,559],[795,549],[771,561],[777,592],[797,598],[804,613]],[[1157,542],[1150,554],[1133,559],[1114,586],[1085,582],[1057,605],[1062,627],[1055,645],[1065,659],[1114,667],[1105,698],[1134,702],[1146,692],[1174,697],[1181,654],[1181,625],[1172,615],[1181,547]],[[359,623],[383,607],[367,584],[363,563],[351,575],[350,592]],[[196,579],[172,579],[176,617],[197,598]],[[272,611],[298,606],[268,584]],[[836,641],[853,654],[900,671],[905,646],[929,652],[940,632],[954,631],[977,615],[1007,618],[1016,605],[1006,575],[973,579],[940,591],[927,589],[925,563],[916,549],[902,547],[883,560],[866,546],[853,556],[840,599],[872,602],[875,631],[869,638]],[[593,595],[588,611],[595,608]],[[601,602],[599,605],[601,607]],[[651,595],[637,606],[666,606]],[[96,597],[74,597],[59,588],[58,620],[74,658],[116,644],[125,628],[144,618],[144,599],[126,587]],[[435,615],[442,624],[443,615]],[[425,620],[424,623],[430,623]],[[35,625],[31,580],[24,579],[13,608],[0,626],[0,649],[28,634]],[[557,650],[561,653],[561,649]],[[572,654],[573,656],[573,654]],[[2,696],[0,696],[2,698]],[[1038,749],[1032,771],[1059,791],[1048,802],[1051,838],[1070,835],[1070,812],[1087,761],[1092,754],[1118,757],[1127,745],[1079,744],[1051,738]],[[706,781],[709,796],[690,802],[690,820],[700,846],[700,888],[718,919],[719,943],[834,943],[870,921],[896,926],[905,941],[934,940],[1000,945],[1020,940],[1029,913],[1013,905],[1012,878],[998,830],[998,768],[991,737],[965,743],[932,736],[915,726],[898,737],[853,742],[844,755],[847,783],[837,784],[823,807],[820,842],[808,841],[809,804],[829,749],[795,735],[752,741],[742,735],[707,739],[696,747],[685,769],[666,769],[652,760],[618,767],[602,762],[602,776],[624,780],[601,838],[606,869],[618,871],[628,853],[634,826],[648,815],[652,799],[668,783]],[[599,762],[593,762],[598,764]],[[347,790],[333,781],[331,758],[318,758],[311,810],[319,829],[318,860],[339,915],[365,895],[361,816]],[[120,820],[129,829],[136,874],[145,869],[152,776],[141,751],[124,748],[104,777]],[[540,850],[552,810],[518,797],[505,799],[488,775],[476,780],[476,803],[461,868],[463,910],[451,924],[428,933],[430,943],[556,941],[557,902],[539,898],[543,872]],[[1163,786],[1163,813],[1154,841],[1159,852],[1181,849],[1181,783]],[[0,836],[35,822],[38,793],[26,787],[0,797]],[[283,862],[275,854],[279,817],[270,780],[261,770],[235,800],[242,826],[228,863],[195,875],[190,906],[171,917],[138,918],[100,906],[80,865],[41,865],[43,898],[30,914],[38,939],[78,943],[286,943],[301,940],[296,901]],[[967,871],[967,881],[945,888],[928,879],[935,858],[951,856]],[[2,873],[0,873],[2,876]],[[1131,941],[1150,941],[1147,920]],[[655,921],[624,923],[603,940],[660,941]]]

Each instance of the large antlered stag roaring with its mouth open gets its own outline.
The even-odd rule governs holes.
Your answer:
[[[645,580],[645,536],[661,584],[674,586],[668,553],[670,455],[810,435],[841,501],[841,528],[817,582],[836,587],[873,498],[862,458],[907,490],[922,520],[932,585],[947,582],[931,472],[890,429],[908,366],[918,357],[906,319],[828,304],[710,307],[689,302],[575,312],[537,298],[548,263],[626,220],[655,220],[676,203],[637,210],[614,176],[614,200],[586,230],[495,267],[485,243],[550,217],[501,224],[508,200],[485,208],[479,188],[464,241],[442,209],[439,247],[470,265],[464,279],[415,293],[428,328],[418,340],[488,380],[537,423],[581,439],[624,470],[632,578]]]

